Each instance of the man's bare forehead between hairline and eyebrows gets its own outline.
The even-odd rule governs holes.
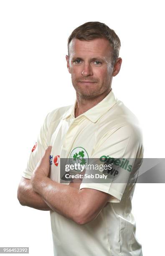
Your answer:
[[[93,40],[85,41],[73,39],[69,44],[69,55],[99,55],[102,57],[109,57],[112,53],[112,47],[109,41],[105,38],[95,38]]]

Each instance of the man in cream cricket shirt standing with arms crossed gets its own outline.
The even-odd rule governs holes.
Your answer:
[[[22,174],[18,200],[50,210],[54,255],[142,256],[131,213],[142,134],[135,115],[112,92],[122,64],[119,49],[118,36],[104,23],[87,22],[71,33],[66,61],[75,103],[48,113]],[[60,183],[59,159],[113,159],[122,180]]]

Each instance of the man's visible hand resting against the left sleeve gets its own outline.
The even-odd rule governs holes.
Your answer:
[[[31,184],[34,191],[36,191],[37,186],[40,186],[40,183],[42,182],[43,178],[49,176],[49,171],[50,171],[49,157],[51,154],[51,149],[52,149],[52,146],[48,146],[48,148],[46,148],[46,151],[43,157],[38,162],[36,169],[34,169],[34,172],[31,177]]]

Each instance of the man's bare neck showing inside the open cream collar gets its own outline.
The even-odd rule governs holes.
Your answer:
[[[111,90],[112,89],[110,88],[108,91],[102,93],[101,95],[98,95],[96,97],[91,97],[91,98],[82,97],[76,92],[77,102],[76,102],[75,111],[74,111],[75,118],[85,113],[90,108],[93,108],[95,105],[97,105],[109,94]]]

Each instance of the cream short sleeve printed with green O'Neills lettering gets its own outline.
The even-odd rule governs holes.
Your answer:
[[[110,199],[109,202],[120,202],[127,182],[130,181],[131,178],[135,180],[138,169],[142,164],[143,145],[140,128],[124,125],[114,133],[107,133],[102,140],[99,141],[98,145],[96,145],[96,148],[94,148],[91,159],[97,159],[96,161],[98,161],[99,164],[103,164],[100,162],[100,159],[104,160],[105,158],[108,159],[108,157],[115,159],[118,165],[122,160],[123,163],[124,161],[128,161],[129,165],[132,167],[127,169],[120,167],[119,175],[117,178],[112,179],[111,182],[86,183],[83,178],[80,189],[91,188],[100,190],[112,195],[112,199]]]

